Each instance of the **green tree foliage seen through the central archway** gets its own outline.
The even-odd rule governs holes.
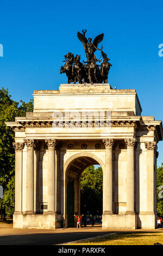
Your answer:
[[[103,172],[102,168],[90,166],[84,170],[80,178],[81,212],[86,214],[102,214],[103,208]]]

